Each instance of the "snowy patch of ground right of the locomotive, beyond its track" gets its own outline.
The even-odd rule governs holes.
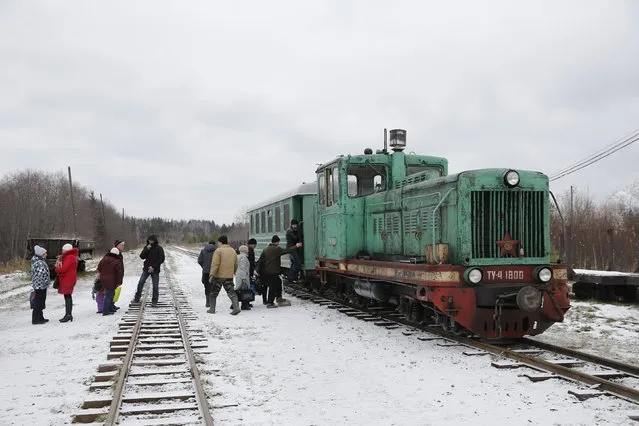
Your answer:
[[[639,305],[575,300],[570,304],[563,323],[534,338],[639,365]]]

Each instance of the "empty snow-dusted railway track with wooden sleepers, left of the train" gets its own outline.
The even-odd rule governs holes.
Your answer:
[[[156,307],[150,287],[122,316],[74,423],[213,424],[197,365],[197,355],[209,353],[207,340],[190,327],[194,314],[186,296],[171,286],[169,271],[160,277]]]

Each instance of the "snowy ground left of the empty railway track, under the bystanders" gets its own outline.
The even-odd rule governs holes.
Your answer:
[[[98,261],[88,269],[95,270]],[[135,293],[139,263],[137,253],[125,253],[122,307]],[[65,324],[58,321],[64,316],[64,297],[49,287],[44,310],[49,322],[32,325],[30,281],[14,282],[24,292],[5,298],[0,307],[0,425],[70,423],[98,364],[106,360],[120,316],[96,314],[93,278],[94,273],[81,274],[73,294],[73,322]]]

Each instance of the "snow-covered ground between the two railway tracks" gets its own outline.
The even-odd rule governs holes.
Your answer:
[[[349,318],[312,302],[206,314],[200,269],[170,252],[170,274],[211,335],[206,381],[217,425],[632,424],[635,405],[581,403],[561,381],[531,383],[484,357]]]

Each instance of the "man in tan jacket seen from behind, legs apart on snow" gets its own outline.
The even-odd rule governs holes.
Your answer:
[[[218,248],[213,253],[213,260],[211,261],[210,282],[211,282],[211,295],[210,295],[210,307],[208,313],[215,313],[215,303],[217,296],[220,294],[220,290],[224,287],[226,294],[231,299],[231,315],[237,315],[240,313],[240,305],[237,299],[237,293],[233,287],[233,275],[237,271],[237,254],[233,247],[229,245],[229,240],[226,235],[222,235],[217,239]]]

